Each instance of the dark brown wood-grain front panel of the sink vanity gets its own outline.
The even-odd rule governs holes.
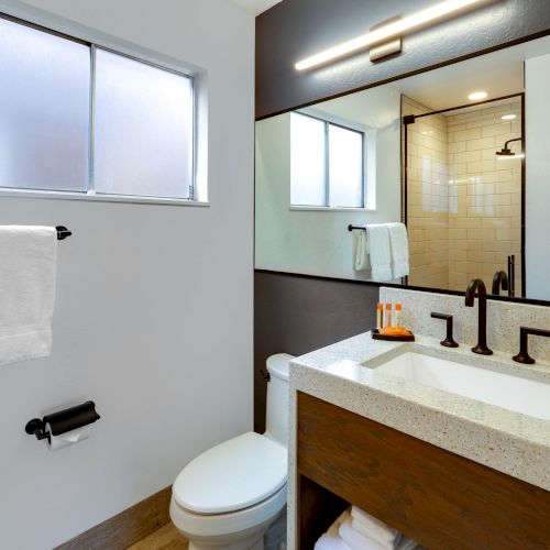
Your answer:
[[[549,492],[302,393],[298,473],[427,548],[550,548]]]

